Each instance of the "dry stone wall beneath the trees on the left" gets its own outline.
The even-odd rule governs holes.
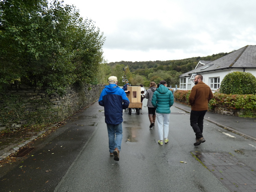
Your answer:
[[[45,90],[40,90],[39,87],[12,84],[5,94],[7,96],[18,96],[16,102],[21,103],[20,107],[24,113],[32,114],[49,108],[57,108],[60,113],[58,115],[64,119],[98,100],[103,87],[104,85],[102,84],[84,84],[79,88],[72,85],[67,88],[67,92],[64,95],[60,96],[57,93],[48,95]],[[3,101],[0,102],[0,105],[3,105]],[[4,108],[8,108],[8,106],[4,106]],[[8,123],[3,124],[0,119],[0,130],[20,127],[26,121],[26,119],[17,121],[17,118],[13,118]]]

